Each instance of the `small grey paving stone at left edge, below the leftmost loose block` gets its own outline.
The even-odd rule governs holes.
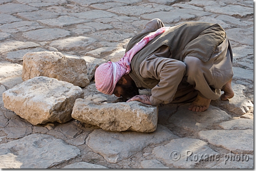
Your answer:
[[[30,127],[8,127],[0,130],[3,130],[7,134],[7,138],[22,138],[32,133]]]

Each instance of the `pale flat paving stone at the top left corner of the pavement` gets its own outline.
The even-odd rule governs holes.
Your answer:
[[[37,11],[38,8],[25,5],[25,4],[19,4],[19,3],[7,3],[4,5],[0,5],[0,11],[4,14],[14,14],[14,13],[20,13],[20,12],[30,12],[30,11]]]

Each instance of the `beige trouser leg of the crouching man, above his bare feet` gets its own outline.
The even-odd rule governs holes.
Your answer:
[[[198,95],[203,98],[216,100],[221,95],[221,87],[233,76],[228,39],[217,46],[209,62],[203,62],[197,57],[187,56],[186,81],[198,90]]]

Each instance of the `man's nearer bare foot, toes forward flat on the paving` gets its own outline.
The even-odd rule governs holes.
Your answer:
[[[200,95],[191,103],[189,110],[191,111],[206,111],[211,103],[211,99],[202,98]]]

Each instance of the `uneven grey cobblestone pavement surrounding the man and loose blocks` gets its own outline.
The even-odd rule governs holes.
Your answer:
[[[115,60],[154,18],[219,23],[234,53],[234,98],[201,113],[161,105],[153,133],[75,119],[35,126],[3,107],[2,93],[22,83],[25,53]],[[99,94],[93,81],[83,91]],[[253,168],[252,0],[0,0],[0,168],[105,167]]]

